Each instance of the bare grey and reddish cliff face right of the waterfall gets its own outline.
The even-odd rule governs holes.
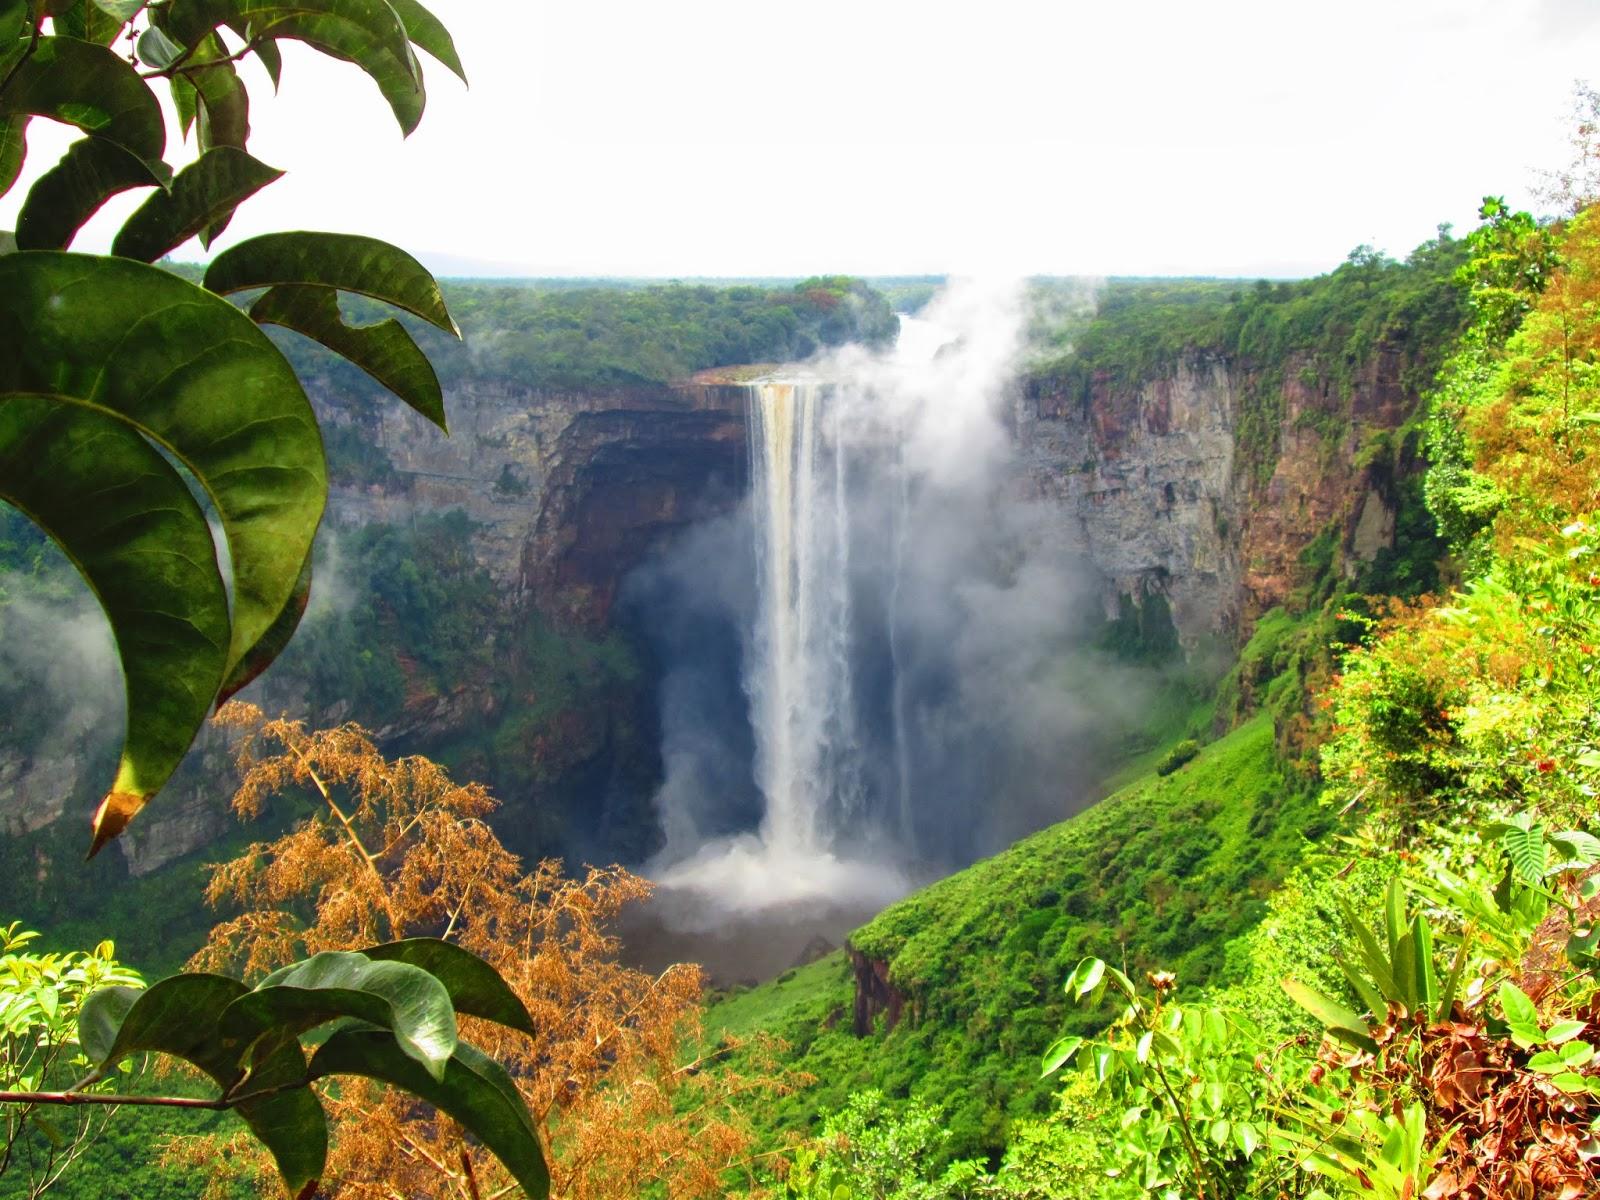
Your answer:
[[[1061,509],[1069,538],[1118,595],[1163,595],[1179,637],[1232,637],[1304,579],[1333,530],[1346,570],[1394,541],[1394,501],[1370,438],[1418,397],[1381,350],[1347,384],[1291,358],[1280,378],[1190,354],[1138,386],[1086,395],[1032,382],[1016,398],[1019,486]]]

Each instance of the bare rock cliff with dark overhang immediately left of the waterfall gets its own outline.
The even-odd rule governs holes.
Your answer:
[[[445,397],[450,437],[394,402],[317,398],[325,421],[381,456],[363,480],[334,478],[334,526],[462,509],[477,526],[478,562],[514,602],[586,629],[605,626],[622,578],[659,538],[744,488],[736,386],[472,382]]]

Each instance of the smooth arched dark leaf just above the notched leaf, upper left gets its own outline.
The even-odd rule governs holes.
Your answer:
[[[205,274],[205,286],[219,294],[280,283],[312,283],[370,296],[459,336],[427,269],[374,237],[264,234],[218,254]]]

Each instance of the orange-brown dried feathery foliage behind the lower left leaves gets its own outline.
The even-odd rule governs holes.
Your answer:
[[[763,1053],[750,1077],[683,1061],[699,1045],[698,966],[650,976],[616,960],[611,920],[650,893],[646,880],[622,867],[570,878],[557,861],[525,870],[485,824],[494,802],[482,786],[456,784],[427,758],[390,762],[355,725],[307,731],[240,702],[218,720],[242,734],[234,808],[243,819],[290,790],[318,811],[213,869],[208,899],[238,915],[213,930],[190,968],[248,979],[318,950],[448,938],[493,965],[533,1016],[531,1038],[472,1018],[461,1029],[517,1078],[552,1195],[634,1197],[661,1184],[669,1197],[709,1197],[746,1171],[750,1136],[736,1104],[781,1083]],[[514,1190],[453,1122],[410,1096],[339,1080],[323,1102],[328,1197],[488,1200]],[[200,1141],[174,1154],[222,1149]]]

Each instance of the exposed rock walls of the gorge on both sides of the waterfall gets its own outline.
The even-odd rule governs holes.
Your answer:
[[[1187,354],[1149,378],[1096,376],[1075,394],[1024,379],[1010,403],[1021,445],[1014,486],[1059,514],[1099,574],[1107,614],[1125,598],[1160,595],[1186,645],[1232,642],[1299,584],[1302,550],[1318,534],[1336,539],[1346,571],[1392,541],[1392,470],[1373,445],[1414,408],[1400,382],[1405,366],[1381,349],[1341,384],[1307,362],[1266,378],[1248,363]],[[650,549],[733,507],[746,488],[744,389],[730,379],[592,390],[469,381],[448,390],[448,438],[389,400],[312,381],[336,466],[330,530],[461,509],[507,622],[538,610],[557,629],[603,634],[624,578]],[[293,680],[267,682],[269,707],[294,707]],[[528,746],[539,779],[610,786],[621,739],[634,739],[635,757],[648,741],[638,714],[651,688],[646,672],[550,715]],[[480,678],[414,686],[379,733],[427,747],[493,723],[504,706]],[[314,717],[373,723],[360,712]],[[224,763],[226,747],[208,734],[163,803],[120,843],[133,874],[232,826],[218,784]],[[637,792],[635,806],[648,805],[648,765],[630,770],[621,787]],[[62,760],[59,744],[0,755],[0,832],[16,837],[86,811],[98,771],[93,755]],[[512,813],[536,811],[544,786],[502,789],[501,800]]]

